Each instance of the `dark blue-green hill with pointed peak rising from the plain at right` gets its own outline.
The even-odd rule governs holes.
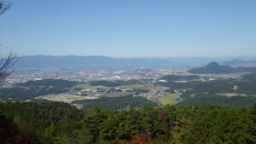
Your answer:
[[[193,74],[226,74],[226,73],[236,73],[236,72],[256,72],[256,66],[253,67],[231,67],[222,66],[217,62],[212,62],[205,67],[193,68],[188,71]]]

